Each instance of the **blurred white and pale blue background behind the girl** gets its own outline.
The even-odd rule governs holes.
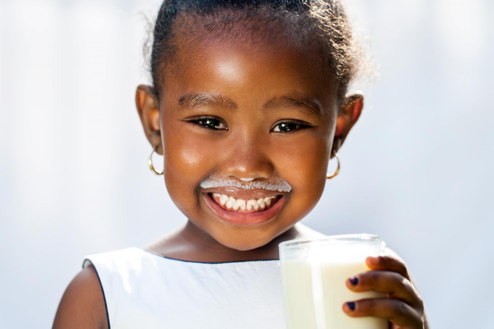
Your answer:
[[[346,2],[380,79],[302,222],[381,235],[431,328],[492,328],[494,4]],[[142,13],[160,1],[0,3],[0,321],[51,328],[84,255],[186,220],[147,166],[134,107],[149,82]]]

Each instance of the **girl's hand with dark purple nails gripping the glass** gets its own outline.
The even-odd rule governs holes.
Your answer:
[[[346,286],[354,292],[384,292],[388,298],[349,301],[343,311],[351,317],[388,319],[392,329],[427,329],[424,304],[405,263],[392,256],[367,257],[366,262],[371,271],[348,279]]]

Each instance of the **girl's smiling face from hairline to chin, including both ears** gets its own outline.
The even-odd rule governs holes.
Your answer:
[[[307,215],[327,181],[333,142],[338,147],[358,117],[352,109],[338,118],[332,82],[310,55],[283,42],[182,44],[159,105],[149,88],[138,88],[137,108],[164,154],[171,199],[224,246],[263,246]],[[285,181],[291,190],[200,186],[211,176],[250,187]]]

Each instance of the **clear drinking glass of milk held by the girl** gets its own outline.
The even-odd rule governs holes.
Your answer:
[[[385,293],[352,292],[345,281],[369,271],[367,256],[384,252],[377,235],[329,235],[279,244],[283,306],[288,329],[388,329],[385,319],[353,318],[343,304]]]

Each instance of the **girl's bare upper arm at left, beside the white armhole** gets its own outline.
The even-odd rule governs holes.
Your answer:
[[[92,265],[81,270],[67,286],[53,321],[53,329],[107,329],[106,308]]]

